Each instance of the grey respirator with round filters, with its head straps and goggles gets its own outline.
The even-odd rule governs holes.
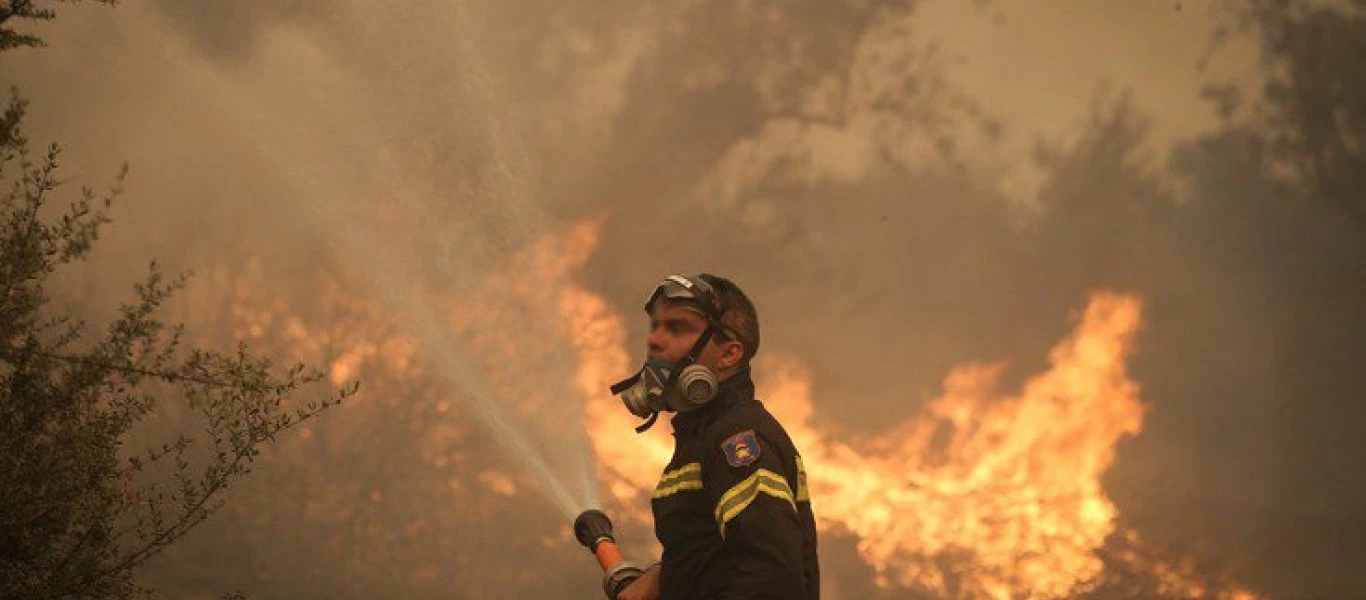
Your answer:
[[[639,433],[653,426],[661,411],[686,413],[705,406],[716,398],[719,387],[716,373],[706,365],[697,364],[697,357],[712,336],[719,331],[725,331],[721,325],[721,310],[712,286],[699,277],[671,275],[654,288],[649,301],[645,302],[646,314],[661,297],[698,306],[701,309],[698,312],[706,318],[706,329],[702,331],[682,361],[676,364],[645,361],[638,373],[612,385],[612,394],[622,396],[622,403],[631,414],[647,420],[635,428]]]

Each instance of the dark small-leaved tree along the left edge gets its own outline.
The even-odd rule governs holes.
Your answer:
[[[97,0],[102,1],[102,0]],[[30,0],[0,7],[0,49],[41,46],[11,19],[52,19]],[[285,403],[322,373],[279,369],[245,343],[183,347],[158,318],[186,277],[152,262],[104,331],[59,306],[56,276],[85,258],[127,172],[104,194],[59,206],[60,149],[34,156],[18,93],[0,116],[0,599],[127,599],[139,567],[223,506],[262,447],[357,391]],[[194,436],[130,448],[139,426],[176,409]]]

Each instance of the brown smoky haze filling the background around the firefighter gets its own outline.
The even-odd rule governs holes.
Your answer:
[[[1354,5],[157,0],[61,7],[0,72],[68,178],[131,165],[68,302],[98,318],[157,258],[195,273],[193,336],[363,381],[157,559],[171,597],[598,597],[564,282],[527,275],[593,223],[572,283],[632,358],[661,276],[724,275],[755,377],[799,358],[848,439],[955,365],[1037,373],[1090,291],[1142,298],[1120,519],[1336,599],[1366,595]],[[852,544],[822,537],[828,596],[910,597]]]

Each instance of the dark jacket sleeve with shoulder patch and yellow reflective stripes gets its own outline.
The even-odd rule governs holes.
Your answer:
[[[727,432],[703,454],[702,487],[731,562],[725,600],[806,596],[796,482],[784,476],[777,446],[754,429]]]

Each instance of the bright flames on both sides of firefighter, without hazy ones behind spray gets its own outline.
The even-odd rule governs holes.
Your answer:
[[[955,599],[1064,597],[1101,578],[1106,540],[1137,540],[1119,530],[1100,478],[1116,443],[1143,426],[1139,387],[1124,365],[1141,309],[1134,297],[1097,292],[1052,349],[1050,368],[1018,392],[997,390],[1003,364],[964,365],[925,414],[881,436],[826,433],[794,357],[757,372],[759,398],[803,454],[820,528],[856,536],[878,585]],[[568,283],[560,310],[604,484],[624,506],[647,510],[672,440],[664,426],[631,435],[634,418],[605,392],[632,368],[623,317]],[[1201,588],[1161,560],[1143,570],[1179,597],[1257,597]]]

